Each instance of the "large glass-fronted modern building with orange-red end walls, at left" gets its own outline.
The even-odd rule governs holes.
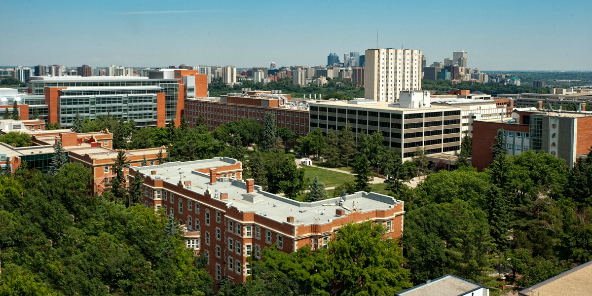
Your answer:
[[[186,98],[207,96],[207,77],[195,70],[156,70],[149,77],[35,76],[21,95],[29,113],[35,109],[47,123],[72,126],[76,112],[83,119],[111,114],[138,126],[178,125]],[[10,98],[8,98],[9,101]]]

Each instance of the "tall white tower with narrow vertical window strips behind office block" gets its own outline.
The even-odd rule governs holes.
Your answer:
[[[422,51],[366,50],[365,98],[395,102],[401,91],[422,89]]]

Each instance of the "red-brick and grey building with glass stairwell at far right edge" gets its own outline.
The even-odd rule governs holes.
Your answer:
[[[535,108],[516,109],[504,120],[473,121],[473,166],[486,168],[493,161],[491,146],[498,131],[506,136],[509,155],[525,150],[543,150],[565,159],[570,168],[592,146],[592,114],[589,112],[546,112]]]

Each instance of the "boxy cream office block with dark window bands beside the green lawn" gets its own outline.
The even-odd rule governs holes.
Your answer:
[[[428,154],[459,150],[461,107],[435,107],[426,91],[401,92],[397,103],[353,99],[348,102],[311,102],[310,128],[341,131],[346,123],[354,133],[378,131],[385,146],[398,149],[408,159],[416,147]]]

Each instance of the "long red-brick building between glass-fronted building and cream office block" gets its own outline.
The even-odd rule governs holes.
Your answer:
[[[307,134],[307,102],[293,101],[290,95],[282,95],[279,91],[244,91],[242,94],[221,95],[220,98],[187,99],[184,115],[190,127],[203,117],[208,130],[212,131],[242,118],[263,124],[263,118],[269,112],[275,113],[277,127],[288,127],[297,136]]]

